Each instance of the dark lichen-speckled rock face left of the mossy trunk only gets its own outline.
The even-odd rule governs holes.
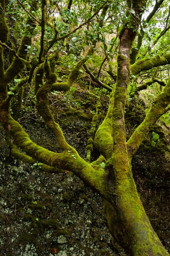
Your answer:
[[[65,133],[77,149],[85,148],[84,133],[80,131],[83,125],[81,121],[72,122]],[[59,150],[44,124],[27,124],[25,129],[39,145]],[[97,194],[72,173],[47,174],[41,172],[41,165],[29,166],[13,159],[3,138],[1,133],[2,255],[125,255],[108,231],[103,203]],[[85,152],[80,150],[80,154]]]

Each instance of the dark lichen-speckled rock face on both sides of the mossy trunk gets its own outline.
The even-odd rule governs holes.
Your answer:
[[[27,122],[24,127],[34,142],[60,152],[55,137],[44,123]],[[68,143],[85,157],[87,122],[73,119],[67,124],[61,123],[61,127]],[[142,149],[133,159],[134,177],[142,203],[155,231],[170,251],[168,166],[159,153],[152,155]],[[2,255],[126,255],[108,231],[101,198],[72,173],[43,173],[41,165],[30,166],[13,159],[2,128],[0,170]]]

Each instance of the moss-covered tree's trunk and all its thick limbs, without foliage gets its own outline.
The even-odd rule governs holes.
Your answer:
[[[0,2],[4,6],[4,1]],[[76,68],[71,72],[65,83],[55,82],[54,67],[50,66],[47,60],[41,63],[35,72],[37,109],[48,127],[55,134],[62,149],[61,153],[46,150],[31,141],[21,125],[9,113],[11,98],[7,94],[7,83],[23,68],[24,60],[27,58],[25,45],[31,44],[30,37],[23,37],[17,57],[6,71],[3,67],[3,47],[0,46],[0,122],[13,137],[14,145],[26,153],[19,152],[13,146],[11,150],[13,155],[31,163],[34,160],[40,161],[48,167],[55,168],[55,172],[61,172],[62,170],[72,171],[101,195],[105,201],[110,232],[131,256],[168,256],[169,254],[154,232],[138,196],[131,170],[131,157],[141,145],[144,135],[148,133],[151,125],[156,122],[168,106],[170,102],[170,80],[165,86],[164,92],[154,101],[145,120],[127,142],[124,123],[130,73],[129,56],[136,36],[136,29],[140,22],[141,16],[139,14],[142,13],[144,4],[145,1],[127,1],[128,8],[133,9],[131,13],[135,12],[136,17],[132,16],[133,28],[128,28],[125,25],[119,35],[117,83],[111,93],[110,106],[106,118],[99,126],[95,136],[95,144],[103,158],[105,157],[106,159],[105,170],[97,165],[97,162],[87,163],[65,141],[59,125],[55,122],[48,108],[48,93],[52,90],[68,90],[76,80],[79,69],[85,63],[87,57],[77,63]],[[0,18],[6,26],[4,15],[1,12]],[[6,34],[4,32],[2,42],[7,41],[8,29],[4,31],[6,31]],[[0,32],[2,33],[1,28]],[[166,62],[168,58],[169,55],[166,55],[166,58],[163,58],[161,63]],[[152,67],[159,65],[157,59],[155,59],[155,62],[152,60],[152,62],[144,61],[143,63],[134,64],[131,67],[131,71],[136,74],[141,70],[150,69],[151,65]]]

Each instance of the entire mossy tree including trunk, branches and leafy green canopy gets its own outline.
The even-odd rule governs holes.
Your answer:
[[[131,168],[131,159],[145,136],[169,111],[170,79],[165,72],[154,70],[164,65],[168,67],[170,63],[169,45],[166,46],[166,54],[161,50],[166,45],[170,28],[168,2],[159,0],[153,5],[147,0],[69,1],[67,4],[34,0],[30,4],[12,0],[7,5],[1,0],[0,4],[0,122],[13,138],[11,154],[31,164],[36,161],[43,163],[44,171],[72,171],[97,191],[104,201],[110,233],[130,255],[168,256],[142,206]],[[145,14],[147,9],[148,15]],[[166,21],[162,21],[162,12]],[[159,27],[153,32],[156,15]],[[22,37],[18,50],[9,39],[12,19],[15,21],[14,36],[17,39]],[[110,42],[106,40],[106,32],[113,35]],[[86,63],[94,55],[97,42],[101,43],[105,57],[99,73],[95,75]],[[7,51],[10,54],[9,64],[4,61]],[[63,54],[67,58],[74,55],[76,62],[67,80],[58,81],[55,65]],[[113,86],[100,79],[102,65],[106,61]],[[116,71],[113,68],[115,61]],[[22,72],[25,66],[27,76]],[[86,160],[66,142],[48,104],[48,95],[54,91],[68,91],[83,67],[98,86],[110,92],[108,111],[97,130],[94,127],[99,118],[99,104],[96,105],[96,115],[92,120],[94,138],[87,141]],[[147,74],[147,80],[141,84],[140,74],[148,70],[154,74],[152,77]],[[157,74],[158,79],[155,78]],[[161,76],[165,76],[165,83]],[[15,82],[18,83],[10,89]],[[152,102],[145,119],[126,140],[124,114],[127,96],[129,93],[138,95],[139,90],[153,83],[164,85],[164,89]],[[17,121],[21,115],[24,89],[33,85],[37,111],[55,134],[62,150],[60,153],[34,143]],[[12,115],[10,106],[14,96],[18,98],[15,115]],[[101,155],[90,162],[93,143]]]

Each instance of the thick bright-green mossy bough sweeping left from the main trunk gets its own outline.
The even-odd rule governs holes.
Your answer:
[[[94,190],[104,197],[107,197],[104,185],[104,170],[95,170],[90,164],[83,160],[77,151],[69,147],[62,153],[55,153],[37,145],[31,141],[23,127],[6,113],[6,119],[0,115],[0,122],[8,129],[13,137],[14,145],[17,145],[28,156],[48,166],[74,172],[81,180],[90,185]],[[16,152],[15,152],[16,153]]]

